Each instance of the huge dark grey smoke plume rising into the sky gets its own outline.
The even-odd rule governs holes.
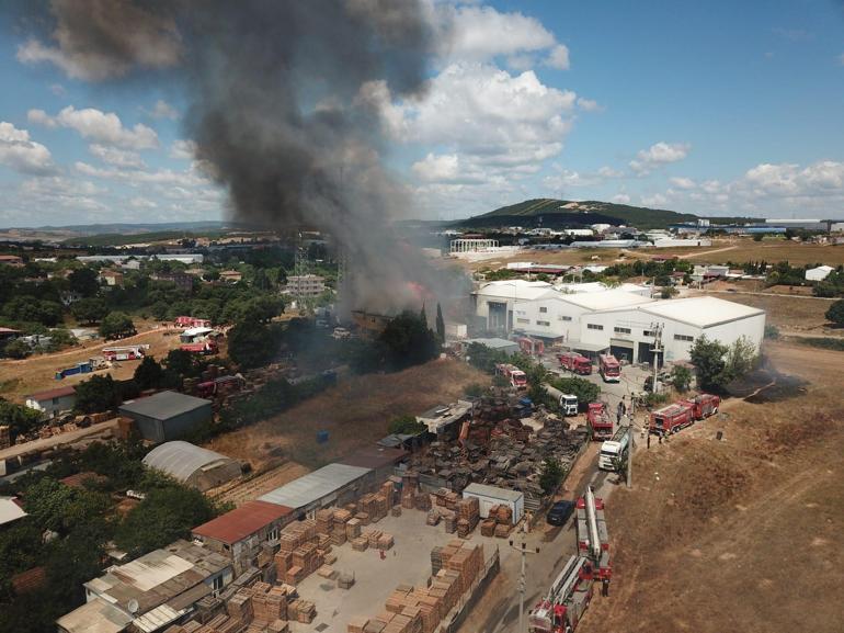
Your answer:
[[[139,94],[175,86],[196,159],[237,219],[330,234],[352,307],[413,306],[442,283],[390,221],[412,213],[384,168],[388,88],[424,99],[433,30],[419,0],[42,0],[18,3],[20,56]]]

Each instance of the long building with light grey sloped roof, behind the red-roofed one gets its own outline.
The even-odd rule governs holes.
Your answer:
[[[317,510],[343,506],[366,491],[374,471],[346,464],[329,464],[259,497],[259,501],[286,506],[298,516],[312,518]]]

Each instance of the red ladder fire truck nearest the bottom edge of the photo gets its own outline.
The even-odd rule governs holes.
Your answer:
[[[594,573],[585,556],[571,556],[548,594],[527,614],[528,633],[571,633],[592,600]]]

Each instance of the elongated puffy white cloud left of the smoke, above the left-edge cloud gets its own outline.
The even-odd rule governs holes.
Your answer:
[[[94,108],[77,110],[68,105],[56,116],[49,116],[43,110],[30,110],[28,120],[47,127],[69,127],[76,129],[82,138],[123,147],[126,149],[151,149],[158,147],[158,134],[151,127],[137,123],[132,128],[124,127],[121,118],[113,112],[102,112]]]

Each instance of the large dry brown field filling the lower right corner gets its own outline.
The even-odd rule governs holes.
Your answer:
[[[844,354],[767,350],[773,385],[637,454],[607,512],[611,598],[579,632],[841,631]]]

